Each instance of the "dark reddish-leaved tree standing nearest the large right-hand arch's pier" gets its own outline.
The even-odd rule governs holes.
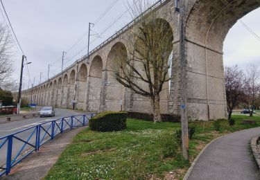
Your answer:
[[[239,100],[245,90],[245,74],[239,66],[225,67],[225,87],[227,96],[227,113],[229,120],[234,107],[238,105]]]

